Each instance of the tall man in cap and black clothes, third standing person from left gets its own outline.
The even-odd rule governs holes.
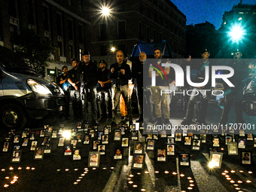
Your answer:
[[[96,103],[96,85],[98,82],[97,78],[97,66],[96,62],[90,60],[90,52],[85,51],[82,54],[83,61],[80,63],[80,69],[82,72],[82,82],[81,82],[81,99],[82,99],[82,111],[84,116],[84,121],[86,122],[88,118],[88,99],[90,99],[90,107],[92,114],[92,123],[99,124],[97,121],[97,103]]]

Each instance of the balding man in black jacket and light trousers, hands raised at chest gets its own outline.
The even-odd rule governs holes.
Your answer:
[[[128,80],[132,78],[132,73],[130,66],[126,63],[123,63],[123,51],[117,50],[116,54],[117,62],[110,66],[110,72],[108,78],[112,80],[112,89],[113,89],[113,108],[112,108],[112,117],[111,122],[112,126],[116,125],[117,119],[117,106],[120,102],[120,94],[123,95],[124,102],[127,106],[127,116],[130,123],[133,123],[133,111],[128,96],[129,86]]]

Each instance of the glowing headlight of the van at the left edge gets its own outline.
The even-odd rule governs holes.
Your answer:
[[[35,81],[33,79],[28,79],[26,83],[31,87],[32,91],[37,96],[53,96],[53,94],[50,92],[50,90],[45,87],[43,84],[39,83],[38,81]]]

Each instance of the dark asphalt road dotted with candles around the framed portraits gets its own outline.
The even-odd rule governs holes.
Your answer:
[[[183,117],[184,111],[181,111],[178,105],[177,110],[172,112],[171,122],[180,125]],[[215,102],[210,102],[206,122],[218,123],[220,117],[221,108],[218,108]],[[234,110],[231,109],[228,123],[234,122],[235,117]],[[255,117],[244,114],[244,119],[246,123],[256,123]],[[122,137],[130,138],[130,145],[128,148],[123,148],[122,160],[114,160],[114,151],[121,145],[120,141],[114,141],[114,130],[119,129],[119,125],[111,127],[109,142],[105,145],[105,155],[100,156],[97,168],[88,166],[89,152],[96,151],[93,150],[93,140],[97,140],[97,138],[91,139],[89,145],[84,145],[84,132],[81,142],[76,145],[76,148],[80,149],[81,160],[72,160],[72,155],[64,155],[65,148],[70,145],[72,139],[66,140],[65,145],[59,147],[59,138],[62,136],[57,135],[56,138],[52,138],[52,134],[49,135],[50,154],[44,154],[43,159],[35,160],[35,151],[30,150],[32,132],[35,132],[35,140],[38,141],[39,146],[44,140],[44,137],[39,136],[41,130],[44,130],[44,124],[53,126],[53,130],[58,132],[60,123],[64,124],[64,130],[72,130],[77,126],[77,122],[74,120],[66,121],[57,118],[48,122],[32,123],[27,127],[30,133],[28,146],[21,146],[23,144],[21,138],[20,142],[14,143],[14,136],[11,136],[7,152],[3,152],[2,149],[5,138],[8,138],[9,134],[8,132],[0,133],[0,191],[256,190],[254,141],[247,140],[246,135],[235,135],[235,142],[238,142],[238,139],[245,139],[245,148],[239,148],[238,155],[228,155],[225,136],[221,136],[220,132],[218,135],[220,147],[216,150],[223,153],[221,169],[209,169],[208,167],[209,151],[212,148],[211,135],[206,136],[206,142],[201,143],[199,151],[192,150],[191,145],[184,145],[183,137],[181,141],[175,141],[175,155],[167,155],[165,162],[157,161],[157,150],[166,148],[167,140],[165,136],[159,136],[155,140],[154,151],[145,150],[143,169],[133,169],[133,155],[136,156],[134,145],[138,144],[136,142],[146,142],[148,136],[143,134],[143,130],[140,130],[138,140],[132,141],[130,130],[127,129]],[[98,133],[103,131],[105,124],[105,121],[102,120],[98,126]],[[22,133],[22,130],[16,130],[15,136],[22,137]],[[11,163],[14,145],[20,145],[20,150],[22,150],[20,163]],[[242,151],[251,152],[251,165],[241,164],[240,154]],[[190,154],[190,166],[179,164],[179,153]],[[13,169],[10,169],[11,167]],[[226,177],[224,173],[230,177]],[[18,177],[17,181],[14,181],[14,176]],[[248,183],[248,180],[251,183]],[[14,181],[14,184],[11,184],[11,181]]]

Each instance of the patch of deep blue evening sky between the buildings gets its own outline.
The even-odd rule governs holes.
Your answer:
[[[224,11],[230,11],[240,0],[171,0],[191,23],[212,23],[216,29],[221,27]],[[255,5],[255,0],[242,0],[242,4]]]

